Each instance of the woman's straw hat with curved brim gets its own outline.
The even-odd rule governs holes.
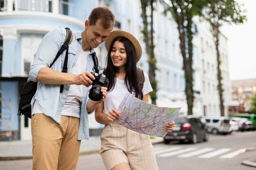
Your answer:
[[[108,38],[105,41],[105,47],[106,47],[107,51],[110,49],[111,42],[117,37],[124,37],[124,38],[127,38],[128,40],[130,40],[130,42],[133,44],[133,46],[135,48],[136,59],[137,59],[136,62],[138,62],[141,57],[141,53],[142,53],[141,46],[140,46],[138,40],[132,34],[126,32],[126,31],[117,30],[117,31],[110,32]]]

